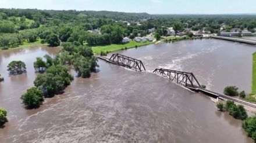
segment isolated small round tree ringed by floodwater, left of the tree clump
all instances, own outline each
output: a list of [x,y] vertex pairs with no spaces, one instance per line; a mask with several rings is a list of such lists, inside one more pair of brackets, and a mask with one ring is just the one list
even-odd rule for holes
[[10,74],[22,74],[26,71],[26,64],[23,61],[12,61],[7,66]]

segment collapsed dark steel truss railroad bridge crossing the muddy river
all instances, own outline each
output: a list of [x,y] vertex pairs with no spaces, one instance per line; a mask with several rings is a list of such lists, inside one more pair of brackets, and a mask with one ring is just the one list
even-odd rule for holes
[[[106,58],[102,56],[97,56],[101,60],[107,61],[112,64],[120,65],[122,67],[134,69],[136,71],[145,71],[145,67],[140,60],[136,60],[135,58],[127,57],[122,54],[113,54],[111,58]],[[238,102],[243,105],[247,105],[249,107],[256,108],[256,105],[251,104],[250,102],[246,102],[243,100],[239,100],[237,98],[233,98],[230,96],[226,96],[224,94],[216,93],[215,91],[207,90],[202,88],[200,83],[198,82],[197,78],[195,78],[192,72],[183,72],[183,71],[175,71],[172,69],[155,69],[153,71],[155,74],[161,75],[164,78],[168,78],[172,82],[177,83],[180,86],[186,87],[192,91],[201,92],[211,96],[213,98],[224,98],[226,100],[232,100],[234,102]]]

